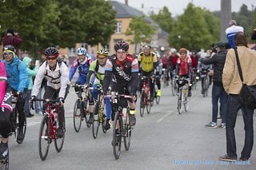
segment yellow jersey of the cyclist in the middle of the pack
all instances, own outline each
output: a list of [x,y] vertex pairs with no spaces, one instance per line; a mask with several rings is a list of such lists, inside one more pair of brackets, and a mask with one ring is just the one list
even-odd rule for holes
[[149,56],[146,56],[145,53],[138,54],[138,61],[141,63],[142,70],[145,72],[150,72],[154,70],[154,63],[158,61],[155,53],[150,53]]

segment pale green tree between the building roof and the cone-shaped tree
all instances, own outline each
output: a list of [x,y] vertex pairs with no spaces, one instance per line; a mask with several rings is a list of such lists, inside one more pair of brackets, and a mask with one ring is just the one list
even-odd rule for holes
[[171,33],[174,19],[171,17],[171,13],[166,6],[164,6],[162,10],[159,10],[158,14],[150,15],[150,18],[152,18],[154,22],[157,22],[162,30]]

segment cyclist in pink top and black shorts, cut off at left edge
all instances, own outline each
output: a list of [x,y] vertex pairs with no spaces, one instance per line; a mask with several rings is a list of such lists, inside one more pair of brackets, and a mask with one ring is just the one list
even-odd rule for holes
[[6,67],[0,61],[0,134],[2,136],[0,143],[0,160],[4,159],[8,153],[8,140],[11,131],[10,113],[11,107],[11,90],[6,87]]

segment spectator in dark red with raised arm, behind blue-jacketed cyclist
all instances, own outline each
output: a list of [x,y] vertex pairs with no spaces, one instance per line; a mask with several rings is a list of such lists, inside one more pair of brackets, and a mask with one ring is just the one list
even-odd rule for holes
[[[6,36],[2,38],[2,45],[13,45],[16,49],[16,54],[18,56],[18,48],[22,43],[22,38],[19,37],[17,32],[14,32],[12,28],[7,30]],[[19,57],[19,56],[18,56]],[[21,59],[21,57],[19,57]]]

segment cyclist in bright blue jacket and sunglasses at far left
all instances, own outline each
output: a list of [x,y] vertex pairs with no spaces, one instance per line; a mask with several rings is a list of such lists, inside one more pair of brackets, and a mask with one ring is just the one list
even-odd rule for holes
[[7,83],[10,85],[13,93],[18,96],[18,136],[17,140],[24,137],[23,126],[26,119],[24,105],[26,101],[26,91],[29,85],[28,73],[26,66],[20,61],[15,54],[13,45],[6,45],[3,48],[4,64],[6,65]]

